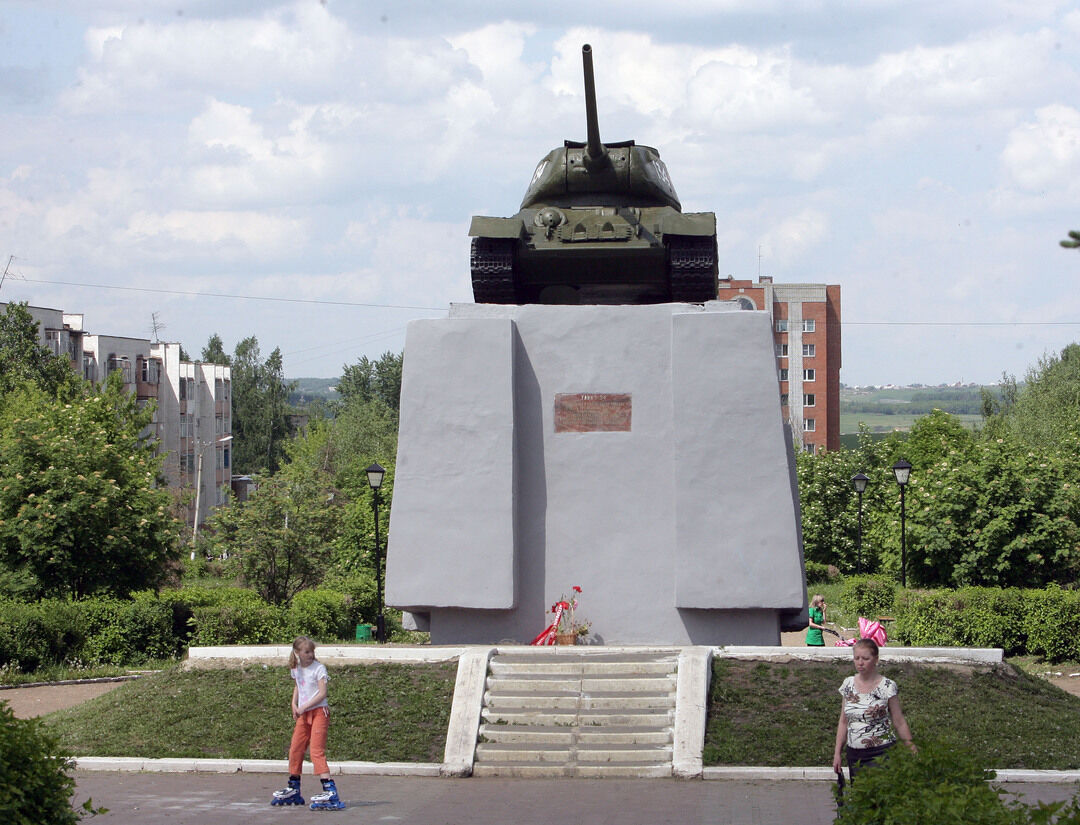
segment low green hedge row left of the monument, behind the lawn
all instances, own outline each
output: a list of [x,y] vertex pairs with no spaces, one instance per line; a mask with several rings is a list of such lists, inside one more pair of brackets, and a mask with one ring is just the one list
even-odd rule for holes
[[285,644],[300,635],[351,639],[375,609],[366,583],[350,591],[303,591],[280,607],[241,587],[187,587],[131,599],[4,599],[0,668],[139,665],[178,655],[188,645]]

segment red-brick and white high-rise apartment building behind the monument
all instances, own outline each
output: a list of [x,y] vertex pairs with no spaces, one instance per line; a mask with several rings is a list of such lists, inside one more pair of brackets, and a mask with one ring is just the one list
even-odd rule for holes
[[780,403],[802,449],[840,448],[840,287],[720,281],[719,300],[772,317]]

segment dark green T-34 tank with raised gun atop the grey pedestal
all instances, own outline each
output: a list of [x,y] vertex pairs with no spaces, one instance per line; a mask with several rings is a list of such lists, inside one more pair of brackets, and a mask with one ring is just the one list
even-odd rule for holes
[[476,215],[477,303],[662,303],[716,298],[716,215],[683,213],[660,152],[600,143],[592,49],[581,49],[588,140],[540,161],[512,218]]

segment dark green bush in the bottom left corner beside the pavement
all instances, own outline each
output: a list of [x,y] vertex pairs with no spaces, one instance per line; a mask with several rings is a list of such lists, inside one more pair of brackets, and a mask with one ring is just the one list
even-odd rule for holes
[[87,799],[71,808],[71,761],[38,719],[16,719],[0,702],[0,822],[4,825],[68,825],[95,810]]

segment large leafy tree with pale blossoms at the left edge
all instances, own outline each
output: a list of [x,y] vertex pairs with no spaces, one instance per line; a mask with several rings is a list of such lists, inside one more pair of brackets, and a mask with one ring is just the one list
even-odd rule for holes
[[0,410],[0,558],[41,593],[126,596],[178,557],[151,415],[119,374],[71,403],[25,387]]

